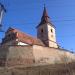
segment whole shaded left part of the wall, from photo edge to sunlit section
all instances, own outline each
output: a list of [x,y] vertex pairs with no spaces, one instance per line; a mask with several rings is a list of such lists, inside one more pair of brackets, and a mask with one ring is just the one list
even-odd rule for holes
[[[33,64],[34,56],[32,46],[7,46],[0,48],[0,61],[6,66],[28,66]],[[1,64],[0,64],[1,65]]]

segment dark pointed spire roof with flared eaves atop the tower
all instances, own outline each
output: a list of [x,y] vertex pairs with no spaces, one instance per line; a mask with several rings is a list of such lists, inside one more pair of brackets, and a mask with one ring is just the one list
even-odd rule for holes
[[44,6],[44,10],[43,10],[43,15],[41,17],[41,22],[40,24],[37,26],[41,26],[42,24],[45,24],[45,23],[50,23],[51,26],[55,27],[51,22],[50,22],[50,17],[48,16],[48,13],[47,13],[47,9],[46,7]]

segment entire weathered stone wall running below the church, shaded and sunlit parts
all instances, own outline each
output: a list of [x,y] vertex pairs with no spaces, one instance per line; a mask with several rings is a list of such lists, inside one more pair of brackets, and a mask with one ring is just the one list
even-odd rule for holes
[[32,64],[57,64],[75,61],[75,54],[61,49],[33,46],[0,47],[0,66],[29,66]]

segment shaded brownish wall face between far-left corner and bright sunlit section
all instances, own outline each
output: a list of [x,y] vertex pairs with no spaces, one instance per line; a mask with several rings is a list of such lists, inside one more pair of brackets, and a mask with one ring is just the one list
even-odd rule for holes
[[33,52],[31,46],[14,46],[9,48],[7,65],[30,65],[33,64]]

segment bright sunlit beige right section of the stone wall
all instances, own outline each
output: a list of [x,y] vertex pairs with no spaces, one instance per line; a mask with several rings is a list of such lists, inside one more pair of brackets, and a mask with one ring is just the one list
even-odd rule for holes
[[75,54],[62,49],[34,45],[33,54],[36,63],[54,64],[75,61]]

